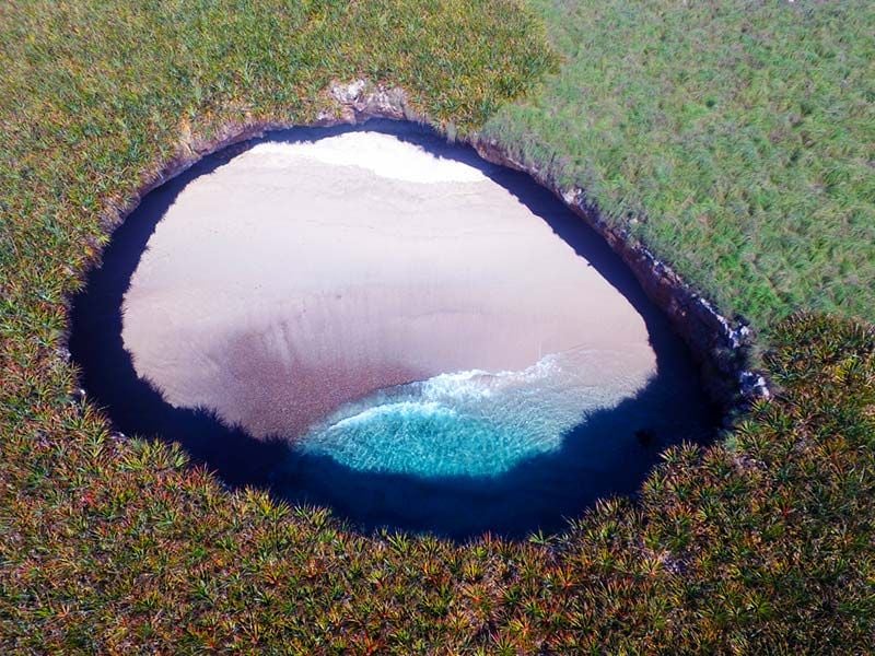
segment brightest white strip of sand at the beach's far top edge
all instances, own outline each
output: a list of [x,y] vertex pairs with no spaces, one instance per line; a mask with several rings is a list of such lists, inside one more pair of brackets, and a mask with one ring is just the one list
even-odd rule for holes
[[347,132],[318,141],[299,143],[266,142],[249,151],[253,155],[271,155],[311,160],[335,166],[357,166],[381,177],[408,183],[480,183],[486,176],[474,166],[438,157],[415,143],[381,132]]

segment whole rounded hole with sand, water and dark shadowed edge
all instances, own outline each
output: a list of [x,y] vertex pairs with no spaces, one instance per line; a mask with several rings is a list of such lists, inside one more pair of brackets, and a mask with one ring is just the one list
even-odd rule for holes
[[718,419],[583,221],[392,121],[275,132],[151,191],[70,351],[120,431],[364,530],[558,530]]

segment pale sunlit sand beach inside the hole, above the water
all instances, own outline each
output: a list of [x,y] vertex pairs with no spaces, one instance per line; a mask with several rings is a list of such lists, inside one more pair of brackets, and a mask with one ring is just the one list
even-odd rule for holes
[[605,377],[655,371],[642,318],[544,220],[477,168],[376,132],[264,143],[195,179],[124,309],[140,376],[257,436],[580,347],[622,353]]

